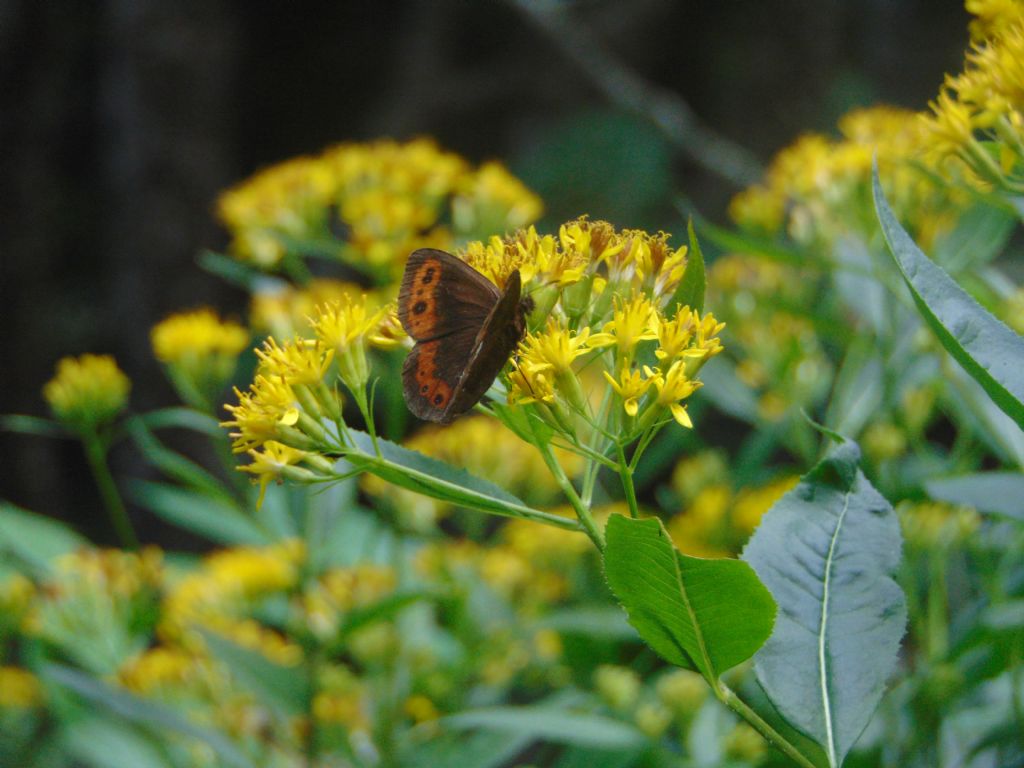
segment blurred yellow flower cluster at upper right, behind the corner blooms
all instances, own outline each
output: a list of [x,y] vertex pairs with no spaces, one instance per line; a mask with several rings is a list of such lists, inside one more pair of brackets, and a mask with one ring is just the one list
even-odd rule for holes
[[833,242],[845,231],[869,232],[871,160],[893,210],[919,242],[929,244],[955,223],[948,193],[910,165],[929,145],[918,113],[892,106],[854,110],[839,121],[841,138],[806,134],[779,152],[762,182],[733,198],[729,214],[740,226],[782,229],[796,242]]

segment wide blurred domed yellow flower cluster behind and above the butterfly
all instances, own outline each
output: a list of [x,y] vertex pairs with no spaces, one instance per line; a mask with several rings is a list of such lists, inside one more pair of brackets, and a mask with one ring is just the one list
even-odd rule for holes
[[[339,258],[385,281],[417,248],[524,226],[541,210],[501,164],[473,169],[425,138],[346,143],[290,160],[218,202],[240,259],[270,268],[303,241],[331,242]],[[342,243],[332,240],[339,228]]]

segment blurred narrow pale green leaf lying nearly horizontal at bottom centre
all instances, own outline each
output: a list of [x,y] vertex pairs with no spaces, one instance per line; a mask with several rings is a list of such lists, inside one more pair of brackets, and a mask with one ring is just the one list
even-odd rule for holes
[[620,720],[559,710],[550,705],[470,710],[443,718],[440,724],[459,730],[506,731],[554,743],[605,750],[628,749],[646,740],[639,730]]

